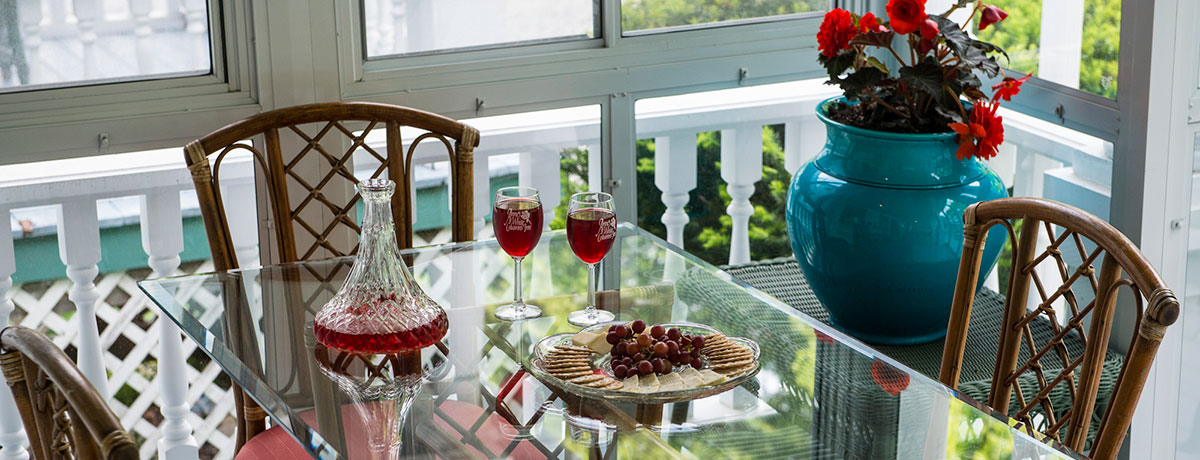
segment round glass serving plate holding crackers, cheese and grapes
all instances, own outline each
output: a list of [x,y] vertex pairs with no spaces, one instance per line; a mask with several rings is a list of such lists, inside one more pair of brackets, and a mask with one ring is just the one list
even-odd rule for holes
[[[628,324],[628,322],[614,321],[608,323],[594,324],[583,328],[581,331],[584,330],[594,331],[600,329],[607,330],[608,327],[613,324]],[[682,331],[685,335],[708,335],[718,331],[716,329],[713,329],[704,324],[686,323],[686,322],[662,323],[662,327],[679,328],[679,331]],[[727,336],[726,339],[750,348],[750,351],[754,353],[754,368],[750,371],[742,374],[737,377],[726,380],[725,382],[712,386],[686,388],[682,390],[655,392],[655,393],[632,393],[632,392],[584,387],[581,384],[570,383],[562,378],[554,377],[545,368],[546,363],[544,358],[545,353],[547,353],[550,348],[557,346],[571,345],[571,337],[575,336],[575,334],[576,333],[554,334],[539,340],[538,343],[534,345],[534,352],[529,358],[529,365],[526,368],[529,371],[529,374],[533,374],[533,376],[536,377],[542,383],[546,383],[551,387],[583,398],[602,399],[612,402],[632,402],[632,404],[670,404],[670,402],[690,401],[694,399],[708,398],[714,394],[724,393],[733,387],[740,386],[743,382],[757,375],[758,371],[762,369],[762,364],[758,360],[758,354],[760,354],[758,343],[756,343],[754,340],[750,339]],[[589,362],[592,363],[592,368],[605,371],[610,377],[612,376],[612,366],[610,365],[611,360],[612,360],[611,354],[601,356],[596,353],[592,353],[589,359]],[[701,357],[701,362],[704,363],[704,368],[708,368],[709,364],[708,358]],[[678,365],[674,366],[674,371],[676,372],[682,371],[684,368],[690,368],[690,366]]]

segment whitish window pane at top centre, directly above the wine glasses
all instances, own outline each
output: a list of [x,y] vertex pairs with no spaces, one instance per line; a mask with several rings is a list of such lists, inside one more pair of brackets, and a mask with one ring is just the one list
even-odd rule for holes
[[367,56],[600,36],[600,0],[364,0]]

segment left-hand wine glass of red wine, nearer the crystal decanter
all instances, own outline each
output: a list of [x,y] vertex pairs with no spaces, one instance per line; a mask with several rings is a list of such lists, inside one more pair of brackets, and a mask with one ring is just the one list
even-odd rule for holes
[[496,317],[518,321],[541,316],[541,309],[521,298],[521,261],[541,239],[541,199],[534,187],[503,187],[496,191],[492,208],[492,229],[496,241],[512,256],[516,274],[512,276],[512,303],[496,309]]

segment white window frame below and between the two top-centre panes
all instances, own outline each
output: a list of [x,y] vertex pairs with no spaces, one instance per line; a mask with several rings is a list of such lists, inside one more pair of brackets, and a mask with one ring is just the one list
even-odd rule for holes
[[602,0],[598,38],[367,60],[361,6],[338,2],[334,13],[342,100],[452,118],[600,104],[604,190],[630,221],[636,100],[826,74],[816,61],[823,12],[623,34],[620,1]]

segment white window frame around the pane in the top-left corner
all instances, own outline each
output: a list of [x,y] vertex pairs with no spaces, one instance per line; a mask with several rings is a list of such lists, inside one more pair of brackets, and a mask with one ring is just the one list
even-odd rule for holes
[[0,165],[182,145],[259,112],[251,1],[209,0],[209,74],[0,94]]

